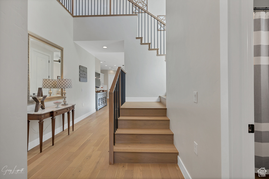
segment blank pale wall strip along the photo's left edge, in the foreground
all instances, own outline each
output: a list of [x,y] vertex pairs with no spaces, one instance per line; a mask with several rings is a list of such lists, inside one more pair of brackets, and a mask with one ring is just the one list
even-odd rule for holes
[[27,43],[27,0],[1,0],[0,178],[27,178]]

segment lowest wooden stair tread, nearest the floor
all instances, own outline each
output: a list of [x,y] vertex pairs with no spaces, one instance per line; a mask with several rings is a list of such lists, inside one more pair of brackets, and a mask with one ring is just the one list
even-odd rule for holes
[[114,152],[178,153],[174,144],[124,144],[117,143]]

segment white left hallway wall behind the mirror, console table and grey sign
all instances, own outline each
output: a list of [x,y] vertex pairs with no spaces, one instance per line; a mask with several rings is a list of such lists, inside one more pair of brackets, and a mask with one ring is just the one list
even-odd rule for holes
[[[63,78],[72,79],[73,83],[73,88],[66,89],[66,100],[69,104],[76,104],[75,123],[95,112],[95,57],[73,42],[73,17],[55,0],[29,0],[28,30],[63,47]],[[79,65],[87,67],[88,82],[79,81]],[[45,107],[53,105],[52,102],[45,103]],[[34,106],[28,105],[27,111],[34,110]],[[61,116],[56,116],[55,134],[61,131],[61,121]],[[66,124],[67,120],[65,128]],[[38,123],[31,121],[30,125],[29,149],[39,145]],[[43,134],[43,140],[51,138],[49,118],[44,120]]]

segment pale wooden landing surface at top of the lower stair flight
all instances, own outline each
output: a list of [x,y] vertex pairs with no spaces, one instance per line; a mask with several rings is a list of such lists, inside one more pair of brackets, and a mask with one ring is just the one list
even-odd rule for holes
[[151,109],[151,108],[162,108],[166,109],[166,106],[161,102],[125,102],[121,108],[144,108],[144,109]]

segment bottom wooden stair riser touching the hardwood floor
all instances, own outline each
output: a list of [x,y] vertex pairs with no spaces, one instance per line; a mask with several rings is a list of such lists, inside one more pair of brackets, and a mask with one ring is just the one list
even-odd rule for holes
[[114,152],[114,163],[178,163],[178,153]]

